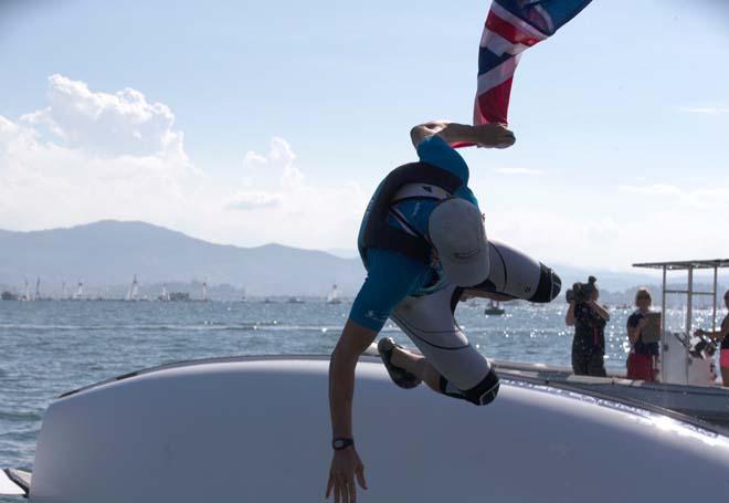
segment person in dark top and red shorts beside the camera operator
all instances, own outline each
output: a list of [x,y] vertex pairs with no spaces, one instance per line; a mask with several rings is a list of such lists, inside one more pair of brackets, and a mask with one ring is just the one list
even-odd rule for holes
[[635,294],[637,310],[627,317],[627,338],[631,342],[631,353],[627,355],[627,378],[655,381],[658,361],[658,343],[643,342],[643,329],[647,325],[647,314],[651,313],[653,298],[647,289],[638,289]]

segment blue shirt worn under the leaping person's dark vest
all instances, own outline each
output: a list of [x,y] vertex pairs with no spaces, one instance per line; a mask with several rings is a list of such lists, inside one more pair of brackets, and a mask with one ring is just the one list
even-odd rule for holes
[[[421,161],[451,171],[463,180],[455,197],[478,207],[468,189],[468,166],[461,155],[439,136],[425,138],[418,145]],[[427,235],[427,220],[436,206],[432,199],[410,199],[393,206],[410,227]],[[394,227],[400,224],[390,219]],[[391,250],[367,250],[367,279],[352,305],[349,318],[360,326],[380,332],[394,308],[410,295],[425,295],[442,289],[439,269]]]

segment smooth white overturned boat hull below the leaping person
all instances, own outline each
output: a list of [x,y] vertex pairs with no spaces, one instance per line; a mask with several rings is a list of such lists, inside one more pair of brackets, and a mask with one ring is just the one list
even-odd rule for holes
[[[3,472],[0,491],[51,503],[323,499],[328,367],[328,356],[203,359],[66,392],[44,415],[32,473]],[[364,503],[727,494],[726,430],[517,374],[476,407],[425,386],[398,388],[379,358],[363,356],[353,413]]]

